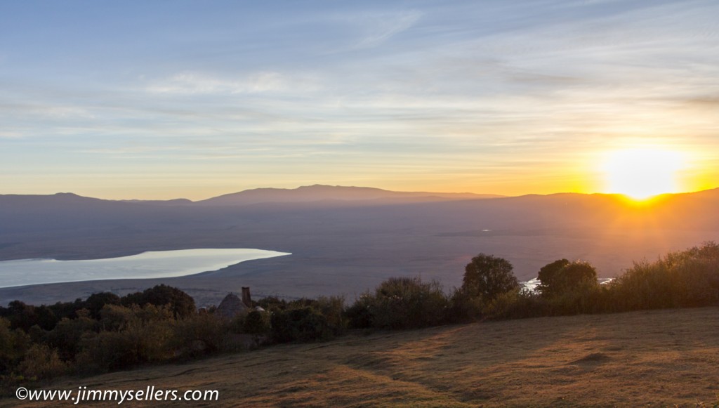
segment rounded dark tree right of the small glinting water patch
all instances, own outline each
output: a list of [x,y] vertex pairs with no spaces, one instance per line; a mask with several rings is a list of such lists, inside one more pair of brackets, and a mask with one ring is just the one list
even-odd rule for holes
[[[543,296],[557,296],[581,287],[597,285],[597,269],[591,263],[582,260],[563,261],[566,259],[556,260],[540,269],[539,287]],[[561,266],[562,263],[564,266]]]

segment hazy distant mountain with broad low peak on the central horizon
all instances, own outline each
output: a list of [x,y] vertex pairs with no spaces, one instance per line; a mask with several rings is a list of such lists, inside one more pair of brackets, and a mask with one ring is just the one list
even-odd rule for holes
[[473,193],[430,193],[389,191],[371,187],[348,186],[301,186],[297,189],[252,189],[239,193],[224,194],[196,204],[231,206],[259,204],[267,202],[311,202],[311,201],[445,201],[461,199],[492,199],[501,196]]

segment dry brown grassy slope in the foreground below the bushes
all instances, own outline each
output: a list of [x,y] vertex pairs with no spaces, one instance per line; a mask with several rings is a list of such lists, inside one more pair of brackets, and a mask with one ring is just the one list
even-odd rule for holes
[[70,378],[46,388],[81,385],[218,389],[219,404],[206,406],[711,406],[719,393],[719,308],[350,336]]

